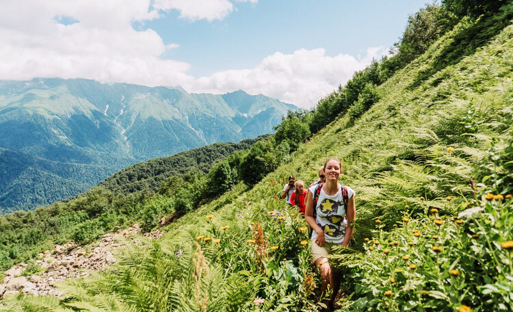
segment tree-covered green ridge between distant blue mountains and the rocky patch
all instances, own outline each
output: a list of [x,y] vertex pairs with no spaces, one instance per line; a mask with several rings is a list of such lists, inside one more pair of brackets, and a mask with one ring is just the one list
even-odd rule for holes
[[[232,179],[224,180],[215,174],[224,168],[222,161],[239,161],[241,153],[266,137],[207,145],[135,164],[64,202],[0,216],[0,270],[68,239],[85,244],[136,221],[141,222],[143,229],[152,229],[172,212],[171,207],[173,211],[179,210],[175,213],[178,217],[237,183],[237,172],[233,172]],[[205,189],[203,185],[209,183],[216,185]],[[187,192],[187,196],[179,198],[189,200],[181,206],[182,210],[176,209],[176,203],[168,203],[176,192]],[[155,200],[159,202],[157,206]]]

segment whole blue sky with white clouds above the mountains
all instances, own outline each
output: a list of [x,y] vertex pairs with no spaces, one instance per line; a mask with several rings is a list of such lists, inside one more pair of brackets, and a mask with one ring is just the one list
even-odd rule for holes
[[387,55],[427,0],[1,0],[0,79],[244,90],[302,108]]

